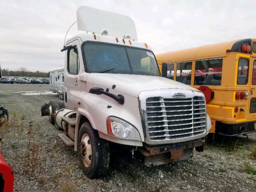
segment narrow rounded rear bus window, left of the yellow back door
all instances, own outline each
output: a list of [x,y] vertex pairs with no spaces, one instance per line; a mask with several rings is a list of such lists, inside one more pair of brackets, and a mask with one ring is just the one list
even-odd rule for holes
[[238,73],[237,73],[237,84],[246,85],[248,82],[248,66],[249,60],[239,59],[238,61]]

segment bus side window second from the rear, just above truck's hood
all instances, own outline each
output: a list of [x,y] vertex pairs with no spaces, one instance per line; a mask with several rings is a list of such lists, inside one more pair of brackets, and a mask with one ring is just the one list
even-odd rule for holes
[[192,61],[177,63],[176,81],[190,85]]

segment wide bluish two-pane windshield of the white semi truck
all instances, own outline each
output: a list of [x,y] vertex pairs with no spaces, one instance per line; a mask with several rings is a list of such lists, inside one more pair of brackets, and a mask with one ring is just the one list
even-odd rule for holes
[[93,42],[85,43],[83,49],[88,72],[160,76],[149,50]]

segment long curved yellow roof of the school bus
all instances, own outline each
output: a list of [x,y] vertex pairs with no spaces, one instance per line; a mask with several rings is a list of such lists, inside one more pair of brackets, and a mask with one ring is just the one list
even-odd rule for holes
[[[194,48],[188,48],[183,50],[171,51],[166,53],[161,53],[156,55],[156,60],[158,64],[162,62],[178,62],[178,61],[188,61],[201,58],[214,58],[223,57],[227,55],[226,50],[231,50],[231,52],[239,52],[240,44],[244,42],[250,42],[252,46],[252,41],[256,42],[256,39],[240,39],[228,42],[204,45]],[[252,51],[251,51],[252,52]],[[252,53],[251,53],[252,54]]]

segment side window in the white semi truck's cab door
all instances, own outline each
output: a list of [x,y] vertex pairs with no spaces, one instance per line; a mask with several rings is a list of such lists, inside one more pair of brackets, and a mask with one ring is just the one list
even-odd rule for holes
[[68,51],[68,73],[78,74],[79,72],[79,58],[76,48]]

